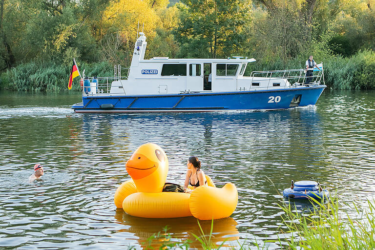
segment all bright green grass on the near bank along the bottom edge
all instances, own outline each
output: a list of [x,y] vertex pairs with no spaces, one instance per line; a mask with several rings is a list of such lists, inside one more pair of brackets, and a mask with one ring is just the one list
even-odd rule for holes
[[[353,204],[354,214],[340,211],[338,201],[330,201],[327,204],[315,203],[311,212],[300,213],[293,206],[282,206],[283,224],[287,230],[280,229],[280,233],[289,233],[288,239],[279,240],[280,249],[285,250],[371,250],[375,249],[375,206],[368,201],[368,210],[360,211]],[[351,218],[352,217],[352,218]],[[214,223],[214,222],[212,222]],[[213,225],[213,224],[212,224]],[[201,235],[194,235],[204,250],[211,249],[258,249],[267,250],[256,242],[238,242],[238,247],[223,247],[224,243],[217,245],[211,231],[205,235],[200,227]],[[162,244],[153,245],[151,242],[158,239]],[[164,233],[158,233],[149,238],[149,249],[189,249],[191,242],[171,242],[171,237],[164,229]],[[282,241],[284,242],[282,244]],[[153,241],[155,243],[155,241]],[[276,242],[277,243],[277,242]]]

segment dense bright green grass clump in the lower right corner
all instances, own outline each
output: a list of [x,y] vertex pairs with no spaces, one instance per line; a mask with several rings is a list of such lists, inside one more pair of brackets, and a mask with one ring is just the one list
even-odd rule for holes
[[340,211],[337,201],[326,205],[318,203],[309,215],[284,207],[284,224],[294,232],[288,241],[289,249],[375,249],[374,202],[368,201],[367,211],[359,211],[355,204],[353,206],[356,212],[352,216]]

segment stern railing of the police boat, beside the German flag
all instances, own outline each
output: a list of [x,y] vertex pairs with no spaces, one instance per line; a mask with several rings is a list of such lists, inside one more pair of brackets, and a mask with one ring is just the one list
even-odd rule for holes
[[[112,82],[120,81],[120,80],[127,80],[126,76],[113,76],[113,77],[97,77],[98,83],[93,83],[93,77],[88,77],[90,81],[90,86],[83,86],[82,93],[83,96],[95,96],[102,93],[110,93]],[[125,90],[122,84],[116,85],[118,89],[116,89],[116,93],[124,93]]]

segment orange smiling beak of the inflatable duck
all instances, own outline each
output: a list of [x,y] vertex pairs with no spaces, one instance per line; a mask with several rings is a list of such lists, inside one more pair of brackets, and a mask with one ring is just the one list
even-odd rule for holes
[[155,172],[159,163],[151,161],[143,154],[133,154],[125,164],[126,171],[133,180],[139,180]]

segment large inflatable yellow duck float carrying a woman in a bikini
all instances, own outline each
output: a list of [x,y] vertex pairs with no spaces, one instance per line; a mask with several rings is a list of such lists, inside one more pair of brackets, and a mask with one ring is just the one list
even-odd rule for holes
[[125,166],[132,180],[117,188],[114,202],[129,215],[144,218],[194,216],[199,220],[211,220],[229,217],[237,207],[238,193],[234,184],[217,188],[207,175],[208,186],[197,187],[191,193],[162,192],[167,180],[168,158],[156,144],[138,147]]

